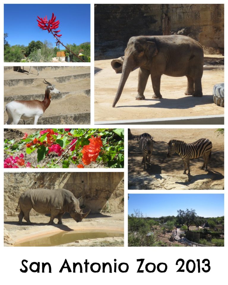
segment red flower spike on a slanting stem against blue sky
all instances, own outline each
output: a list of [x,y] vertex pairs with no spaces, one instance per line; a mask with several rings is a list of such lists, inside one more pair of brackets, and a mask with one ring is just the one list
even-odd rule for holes
[[[54,15],[54,13],[52,13],[52,17],[50,20],[47,20],[47,16],[44,18],[40,18],[39,16],[37,16],[37,18],[39,20],[37,20],[38,22],[38,27],[42,30],[47,30],[48,33],[52,33],[53,37],[56,39],[56,45],[61,44],[62,46],[64,46],[67,50],[69,50],[68,47],[66,47],[61,41],[60,41],[60,37],[62,36],[62,34],[58,34],[61,30],[56,31],[56,29],[58,29],[59,26],[59,20],[56,21],[56,16]],[[69,50],[70,53],[73,53],[71,50]],[[77,56],[75,53],[73,53],[73,55],[75,55],[77,58],[79,58],[81,61],[85,62],[82,58],[80,58],[80,56]]]

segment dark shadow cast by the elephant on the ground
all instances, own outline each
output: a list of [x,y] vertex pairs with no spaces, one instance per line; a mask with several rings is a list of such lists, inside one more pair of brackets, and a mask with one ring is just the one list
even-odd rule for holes
[[189,109],[199,105],[206,105],[213,103],[213,95],[203,95],[202,97],[193,97],[193,96],[184,96],[178,99],[145,99],[145,101],[156,101],[156,104],[152,105],[125,105],[125,106],[116,106],[115,108],[122,107],[151,107],[151,108],[166,108],[166,109]]

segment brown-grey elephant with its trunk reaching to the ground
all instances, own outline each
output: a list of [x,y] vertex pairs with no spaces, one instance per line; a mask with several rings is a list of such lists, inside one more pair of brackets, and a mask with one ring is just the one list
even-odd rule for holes
[[[201,97],[203,74],[203,49],[200,43],[182,35],[131,37],[127,44],[122,75],[113,101],[118,102],[131,71],[139,69],[138,95],[136,100],[144,100],[143,95],[149,75],[151,75],[154,95],[162,98],[160,83],[162,74],[188,79],[185,95]],[[170,86],[172,89],[172,86]]]

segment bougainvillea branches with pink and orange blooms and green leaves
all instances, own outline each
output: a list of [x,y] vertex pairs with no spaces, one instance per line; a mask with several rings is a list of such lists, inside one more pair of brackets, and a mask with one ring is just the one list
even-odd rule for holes
[[[5,139],[4,168],[124,167],[123,129],[45,129]],[[15,158],[14,153],[20,152]],[[24,154],[23,154],[24,152]],[[26,157],[24,157],[26,156]]]

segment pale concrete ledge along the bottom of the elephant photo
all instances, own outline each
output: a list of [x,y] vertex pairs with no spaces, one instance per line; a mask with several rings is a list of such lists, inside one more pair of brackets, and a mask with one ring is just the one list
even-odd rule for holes
[[98,121],[95,125],[224,125],[224,115],[158,118],[123,121]]

